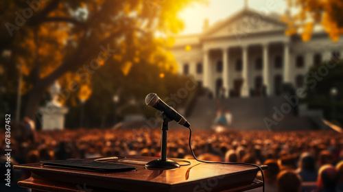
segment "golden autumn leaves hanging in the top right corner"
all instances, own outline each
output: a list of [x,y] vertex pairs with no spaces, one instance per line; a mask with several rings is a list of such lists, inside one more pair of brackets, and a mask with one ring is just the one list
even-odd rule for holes
[[341,0],[287,0],[289,8],[298,9],[296,14],[286,14],[288,35],[300,31],[304,41],[311,39],[317,25],[321,25],[331,40],[338,41],[343,34],[343,1]]

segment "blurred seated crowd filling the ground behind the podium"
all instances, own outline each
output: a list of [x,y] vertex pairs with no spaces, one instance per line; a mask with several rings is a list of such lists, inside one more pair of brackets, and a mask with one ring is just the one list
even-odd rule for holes
[[[5,138],[0,134],[0,139]],[[13,137],[12,164],[104,156],[158,157],[161,147],[158,128],[80,128]],[[189,130],[169,130],[167,157],[193,158],[188,142]],[[343,191],[343,137],[338,132],[194,130],[191,145],[200,160],[268,165],[264,171],[266,191]],[[21,172],[16,177],[28,175]]]

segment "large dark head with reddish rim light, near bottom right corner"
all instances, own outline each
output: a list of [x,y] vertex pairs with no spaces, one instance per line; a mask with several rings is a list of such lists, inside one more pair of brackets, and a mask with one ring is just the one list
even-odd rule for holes
[[332,165],[322,165],[318,171],[317,186],[320,190],[334,191],[338,181],[338,171]]

